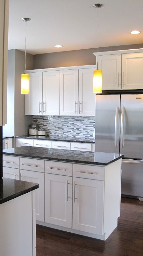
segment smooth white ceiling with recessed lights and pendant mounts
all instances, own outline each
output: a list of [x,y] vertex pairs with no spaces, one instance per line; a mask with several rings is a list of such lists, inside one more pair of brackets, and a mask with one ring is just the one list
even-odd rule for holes
[[[97,47],[95,0],[10,0],[9,49],[32,54]],[[99,1],[100,3],[100,1]],[[143,43],[143,0],[103,0],[99,9],[99,47]],[[142,33],[131,35],[130,31]],[[54,45],[61,44],[62,48]]]

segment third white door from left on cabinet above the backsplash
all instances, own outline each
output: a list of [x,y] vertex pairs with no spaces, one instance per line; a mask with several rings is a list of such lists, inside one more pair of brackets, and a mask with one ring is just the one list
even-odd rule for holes
[[60,115],[78,116],[78,69],[60,71]]

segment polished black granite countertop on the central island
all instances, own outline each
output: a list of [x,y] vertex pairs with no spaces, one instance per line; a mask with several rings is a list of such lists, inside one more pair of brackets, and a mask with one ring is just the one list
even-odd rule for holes
[[122,154],[113,153],[88,152],[56,148],[38,148],[28,146],[4,149],[3,154],[11,156],[40,158],[60,162],[96,165],[108,165],[124,156]]

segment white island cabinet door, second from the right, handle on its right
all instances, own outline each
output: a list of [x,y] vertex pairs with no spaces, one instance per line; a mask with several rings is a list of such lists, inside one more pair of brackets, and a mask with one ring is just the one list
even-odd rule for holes
[[45,173],[45,222],[72,227],[72,177]]

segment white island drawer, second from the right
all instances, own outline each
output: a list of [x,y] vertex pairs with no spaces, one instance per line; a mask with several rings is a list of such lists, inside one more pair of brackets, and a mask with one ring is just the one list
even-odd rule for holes
[[45,172],[66,176],[73,175],[73,164],[45,161]]

